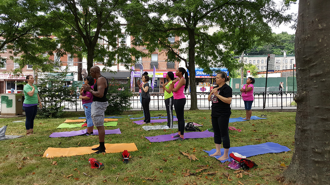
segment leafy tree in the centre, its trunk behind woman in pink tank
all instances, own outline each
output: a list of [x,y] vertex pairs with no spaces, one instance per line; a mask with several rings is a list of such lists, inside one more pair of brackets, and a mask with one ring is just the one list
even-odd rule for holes
[[[273,1],[236,0],[158,0],[132,1],[124,10],[127,32],[133,44],[146,46],[149,53],[165,51],[168,60],[182,61],[195,84],[195,66],[210,72],[211,67],[235,68],[232,55],[241,54],[256,43],[273,40],[268,23],[280,24],[289,16]],[[213,32],[212,30],[216,31]],[[178,36],[171,44],[169,37]],[[184,57],[181,54],[187,53]],[[191,86],[191,107],[197,109],[196,87]]]

